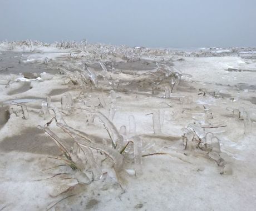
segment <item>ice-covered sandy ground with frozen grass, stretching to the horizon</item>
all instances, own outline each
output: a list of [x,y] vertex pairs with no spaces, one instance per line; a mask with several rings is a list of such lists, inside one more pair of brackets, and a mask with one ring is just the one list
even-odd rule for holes
[[[0,43],[0,210],[255,210],[255,52]],[[87,67],[92,75],[81,82]],[[65,107],[67,93],[76,108]],[[52,159],[62,152],[37,127],[55,117],[47,97],[67,125],[99,146],[84,148],[91,159],[75,151],[77,137],[63,132],[58,120],[46,127],[73,149],[88,181]],[[97,112],[117,128],[120,144],[134,142],[122,152],[119,169],[102,151],[112,149],[111,135]],[[181,129],[191,124],[201,140],[188,138],[184,149],[182,135],[189,132]],[[218,137],[221,152],[208,132]]]

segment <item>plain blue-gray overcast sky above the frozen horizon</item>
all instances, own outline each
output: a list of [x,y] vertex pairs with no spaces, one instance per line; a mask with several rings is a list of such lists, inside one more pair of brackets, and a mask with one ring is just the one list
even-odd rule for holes
[[256,0],[0,0],[0,40],[256,46]]

